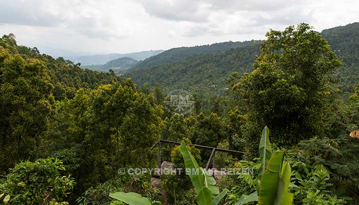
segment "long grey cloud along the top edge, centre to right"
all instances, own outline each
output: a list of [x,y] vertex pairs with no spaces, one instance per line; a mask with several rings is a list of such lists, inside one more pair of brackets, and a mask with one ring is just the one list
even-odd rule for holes
[[174,21],[188,21],[194,23],[208,22],[214,12],[230,14],[235,11],[276,12],[286,8],[305,5],[305,1],[293,2],[287,0],[253,1],[253,0],[138,0],[150,15]]

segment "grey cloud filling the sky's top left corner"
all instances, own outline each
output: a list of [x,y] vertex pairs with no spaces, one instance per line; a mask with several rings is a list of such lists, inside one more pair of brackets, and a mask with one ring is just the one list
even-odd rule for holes
[[[62,27],[93,38],[123,38],[117,22],[96,7],[97,1],[2,0],[0,23]],[[126,27],[123,28],[124,31]]]

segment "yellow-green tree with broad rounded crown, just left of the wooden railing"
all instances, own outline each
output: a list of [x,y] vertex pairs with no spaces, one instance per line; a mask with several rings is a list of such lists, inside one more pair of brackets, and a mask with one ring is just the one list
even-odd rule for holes
[[152,95],[140,92],[126,79],[93,90],[88,103],[89,111],[80,112],[88,114],[87,126],[76,126],[86,132],[81,141],[84,160],[78,169],[79,183],[88,188],[109,179],[118,168],[155,164],[150,147],[159,139],[163,111]]

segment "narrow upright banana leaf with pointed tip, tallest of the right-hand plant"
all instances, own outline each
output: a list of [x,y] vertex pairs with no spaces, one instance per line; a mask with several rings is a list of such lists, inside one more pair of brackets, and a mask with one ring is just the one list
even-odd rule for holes
[[263,173],[266,171],[268,167],[268,163],[273,152],[269,142],[269,129],[267,128],[267,126],[262,131],[262,138],[260,142],[259,151],[260,151],[261,166],[258,169],[258,179],[261,180]]

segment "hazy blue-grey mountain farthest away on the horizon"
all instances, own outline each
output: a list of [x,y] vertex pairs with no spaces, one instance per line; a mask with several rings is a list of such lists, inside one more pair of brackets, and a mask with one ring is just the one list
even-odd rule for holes
[[150,51],[141,51],[134,53],[112,53],[112,54],[99,54],[99,55],[84,55],[75,59],[71,59],[74,63],[81,63],[82,65],[103,65],[108,61],[122,58],[122,57],[130,57],[135,60],[144,60],[153,55],[157,55],[159,53],[164,52],[165,50],[150,50]]

